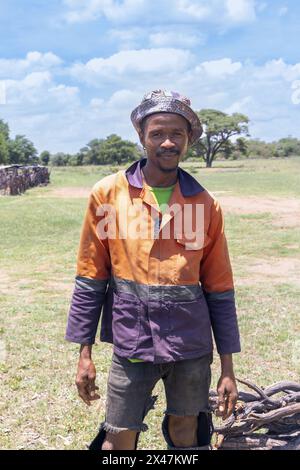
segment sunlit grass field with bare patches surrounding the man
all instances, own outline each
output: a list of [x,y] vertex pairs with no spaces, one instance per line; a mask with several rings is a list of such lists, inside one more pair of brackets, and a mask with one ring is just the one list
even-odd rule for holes
[[[300,158],[185,162],[224,208],[242,353],[236,376],[260,386],[300,375]],[[77,397],[78,345],[64,341],[91,186],[116,168],[53,168],[51,184],[0,198],[0,448],[84,449],[104,419],[112,347],[97,342],[101,399]],[[213,383],[219,377],[215,352]],[[164,449],[163,386],[139,448]]]

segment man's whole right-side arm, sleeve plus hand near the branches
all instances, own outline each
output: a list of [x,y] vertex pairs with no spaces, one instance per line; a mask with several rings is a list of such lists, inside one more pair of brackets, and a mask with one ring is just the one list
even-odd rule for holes
[[240,352],[241,346],[232,269],[224,232],[224,218],[217,201],[212,206],[208,236],[211,242],[203,250],[200,281],[220,355],[221,376],[217,386],[218,405],[219,415],[225,419],[232,414],[238,398],[232,353]]

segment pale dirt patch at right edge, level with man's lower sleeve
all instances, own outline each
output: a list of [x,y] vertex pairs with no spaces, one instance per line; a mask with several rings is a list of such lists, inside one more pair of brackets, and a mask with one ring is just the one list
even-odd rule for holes
[[[248,264],[249,263],[249,264]],[[286,284],[300,287],[300,260],[293,258],[251,259],[245,266],[245,277],[238,276],[236,285],[257,283]]]

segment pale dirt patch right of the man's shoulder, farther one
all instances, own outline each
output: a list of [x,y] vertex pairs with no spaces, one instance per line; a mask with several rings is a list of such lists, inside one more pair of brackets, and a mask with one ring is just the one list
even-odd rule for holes
[[[224,212],[233,214],[260,214],[269,212],[273,225],[300,227],[300,200],[296,198],[227,196],[215,193]],[[220,194],[220,195],[219,195]]]

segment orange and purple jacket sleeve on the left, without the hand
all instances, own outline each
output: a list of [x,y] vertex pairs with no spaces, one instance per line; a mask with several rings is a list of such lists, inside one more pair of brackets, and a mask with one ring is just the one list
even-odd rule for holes
[[[65,339],[93,344],[110,278],[108,241],[100,237],[97,225],[103,219],[101,202],[93,188],[81,229],[75,287],[71,298]],[[100,214],[100,215],[98,215]]]

